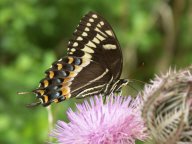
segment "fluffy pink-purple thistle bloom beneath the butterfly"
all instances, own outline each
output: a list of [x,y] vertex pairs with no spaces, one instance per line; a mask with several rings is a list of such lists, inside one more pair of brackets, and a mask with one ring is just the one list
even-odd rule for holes
[[106,104],[95,96],[77,111],[68,110],[69,123],[58,121],[51,136],[64,144],[134,144],[146,138],[140,111],[141,99],[111,96]]

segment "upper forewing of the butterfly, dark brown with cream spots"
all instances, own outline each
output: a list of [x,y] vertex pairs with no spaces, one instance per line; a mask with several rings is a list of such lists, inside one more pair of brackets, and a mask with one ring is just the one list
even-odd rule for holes
[[120,78],[123,60],[119,42],[112,27],[98,14],[89,12],[81,19],[68,48],[69,55],[82,57],[86,54],[109,68],[114,79]]

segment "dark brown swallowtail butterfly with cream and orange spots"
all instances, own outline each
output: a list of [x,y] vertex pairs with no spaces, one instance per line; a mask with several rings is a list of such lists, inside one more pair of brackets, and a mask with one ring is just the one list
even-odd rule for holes
[[66,99],[119,92],[127,79],[120,79],[122,51],[109,23],[95,12],[80,21],[68,42],[67,56],[52,63],[45,78],[32,92],[48,106]]

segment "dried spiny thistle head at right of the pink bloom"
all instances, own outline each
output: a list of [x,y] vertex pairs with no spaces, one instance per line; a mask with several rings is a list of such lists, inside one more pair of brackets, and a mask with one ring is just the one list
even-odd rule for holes
[[156,144],[192,143],[192,65],[145,85],[142,116]]

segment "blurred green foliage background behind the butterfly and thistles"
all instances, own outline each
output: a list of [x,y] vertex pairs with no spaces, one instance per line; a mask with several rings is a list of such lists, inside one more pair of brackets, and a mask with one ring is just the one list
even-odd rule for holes
[[[192,63],[191,0],[0,0],[1,144],[48,141],[46,108],[26,108],[35,96],[17,92],[38,86],[44,71],[66,54],[68,40],[90,10],[107,19],[118,37],[122,77],[148,82],[170,66]],[[131,85],[138,91],[143,86]],[[136,94],[128,87],[124,91]],[[53,105],[54,123],[67,120],[65,111],[74,102]]]

